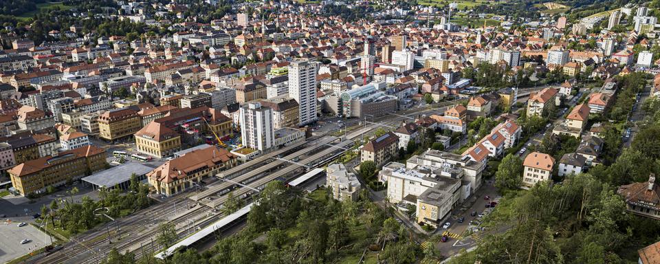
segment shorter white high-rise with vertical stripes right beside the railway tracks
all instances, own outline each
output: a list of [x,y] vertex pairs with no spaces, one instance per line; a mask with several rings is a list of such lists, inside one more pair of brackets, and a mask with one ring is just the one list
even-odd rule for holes
[[250,102],[241,107],[241,138],[244,146],[265,151],[273,146],[272,109],[262,107],[259,102]]

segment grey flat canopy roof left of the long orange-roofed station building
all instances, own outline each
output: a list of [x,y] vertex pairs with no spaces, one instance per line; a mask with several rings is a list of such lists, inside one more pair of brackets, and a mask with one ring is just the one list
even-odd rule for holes
[[90,184],[96,186],[106,186],[112,187],[122,182],[131,180],[131,175],[145,175],[146,173],[153,170],[150,166],[144,166],[139,163],[129,162],[119,166],[114,166],[107,170],[101,170],[94,175],[87,176],[83,178],[83,181],[87,181]]

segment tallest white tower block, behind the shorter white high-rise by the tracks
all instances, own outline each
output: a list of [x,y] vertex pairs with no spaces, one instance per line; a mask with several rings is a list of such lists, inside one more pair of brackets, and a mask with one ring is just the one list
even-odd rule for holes
[[318,119],[316,115],[316,72],[318,63],[293,61],[289,65],[289,97],[300,105],[300,126]]

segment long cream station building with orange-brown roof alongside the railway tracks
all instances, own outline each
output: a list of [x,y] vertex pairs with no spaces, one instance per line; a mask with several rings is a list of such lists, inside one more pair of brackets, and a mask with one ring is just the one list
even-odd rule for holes
[[146,176],[160,195],[171,196],[200,184],[222,170],[236,166],[236,157],[218,146],[190,151],[165,162]]

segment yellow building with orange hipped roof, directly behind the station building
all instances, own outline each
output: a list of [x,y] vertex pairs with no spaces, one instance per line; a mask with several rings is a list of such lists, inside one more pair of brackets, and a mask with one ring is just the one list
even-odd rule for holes
[[181,150],[181,136],[160,124],[149,122],[135,133],[137,152],[153,157],[168,157]]

